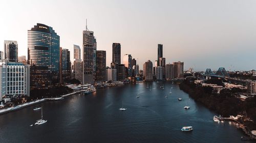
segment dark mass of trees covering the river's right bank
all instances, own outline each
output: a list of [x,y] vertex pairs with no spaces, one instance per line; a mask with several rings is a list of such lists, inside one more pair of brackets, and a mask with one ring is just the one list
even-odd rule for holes
[[[214,82],[218,83],[219,81]],[[212,93],[212,88],[202,87],[189,80],[184,80],[180,84],[180,89],[188,93],[195,101],[202,103],[210,110],[216,111],[224,117],[243,115],[256,121],[256,97],[250,97],[245,101],[241,101],[233,96],[234,93],[244,92],[244,90],[238,88],[231,90],[223,89],[220,91],[220,94],[214,94]],[[243,121],[247,128],[256,130],[256,124],[254,122],[248,122],[247,119]]]

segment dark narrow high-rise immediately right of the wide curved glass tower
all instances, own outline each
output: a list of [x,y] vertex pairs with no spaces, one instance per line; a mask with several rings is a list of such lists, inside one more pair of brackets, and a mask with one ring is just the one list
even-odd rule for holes
[[71,79],[71,62],[69,49],[61,50],[61,72],[62,82],[68,82]]

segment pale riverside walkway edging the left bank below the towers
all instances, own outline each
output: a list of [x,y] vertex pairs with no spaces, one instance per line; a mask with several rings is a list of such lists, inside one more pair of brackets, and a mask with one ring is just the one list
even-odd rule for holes
[[39,104],[39,103],[42,103],[42,102],[46,102],[46,101],[63,100],[63,99],[65,99],[65,97],[69,97],[69,96],[74,95],[74,94],[79,94],[79,93],[84,92],[84,91],[85,90],[76,91],[76,92],[61,95],[60,97],[55,97],[55,98],[42,98],[42,99],[34,100],[34,101],[31,101],[31,102],[26,102],[24,104],[20,104],[20,105],[14,106],[14,107],[1,109],[0,110],[0,115],[3,115],[3,114],[8,113],[8,112],[16,111],[16,110],[19,110],[19,109],[23,109],[23,108],[26,108],[26,107],[29,107],[29,106],[32,106],[32,105],[36,105],[36,104]]

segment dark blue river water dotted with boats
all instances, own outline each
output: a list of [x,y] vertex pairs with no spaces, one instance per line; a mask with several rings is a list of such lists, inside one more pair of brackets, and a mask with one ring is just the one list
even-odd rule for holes
[[[162,84],[98,89],[87,96],[73,95],[6,113],[0,116],[0,142],[242,142],[245,134],[231,122],[215,123],[216,113],[189,98],[178,85],[164,82],[161,90]],[[185,110],[187,104],[191,108]],[[127,110],[119,111],[122,105]],[[40,110],[33,110],[36,106],[43,107],[48,122],[30,127],[41,118]],[[182,132],[183,126],[194,130]]]

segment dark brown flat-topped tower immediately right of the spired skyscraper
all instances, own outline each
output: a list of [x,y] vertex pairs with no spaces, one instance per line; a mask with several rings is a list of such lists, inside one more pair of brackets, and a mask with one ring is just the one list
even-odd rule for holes
[[96,80],[106,81],[106,51],[96,51]]

